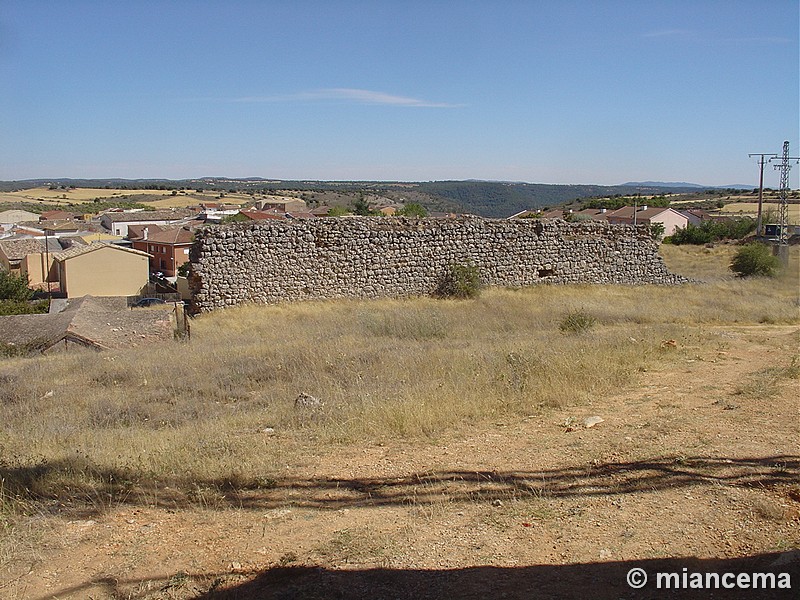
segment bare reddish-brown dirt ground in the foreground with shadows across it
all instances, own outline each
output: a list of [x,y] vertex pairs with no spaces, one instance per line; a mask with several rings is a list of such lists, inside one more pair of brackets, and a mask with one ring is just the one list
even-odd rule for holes
[[[674,361],[616,395],[434,440],[321,447],[277,432],[262,444],[286,446],[284,473],[235,508],[122,504],[32,524],[44,533],[0,573],[0,596],[784,597],[652,582],[688,568],[786,572],[797,598],[800,390],[770,369],[797,356],[799,331],[686,328]],[[626,584],[633,567],[651,577],[642,590]]]

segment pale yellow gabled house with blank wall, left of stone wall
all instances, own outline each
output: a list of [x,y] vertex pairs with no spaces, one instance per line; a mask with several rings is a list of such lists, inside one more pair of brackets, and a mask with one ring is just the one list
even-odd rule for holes
[[80,296],[136,296],[147,285],[150,255],[111,244],[76,246],[56,254],[61,292]]

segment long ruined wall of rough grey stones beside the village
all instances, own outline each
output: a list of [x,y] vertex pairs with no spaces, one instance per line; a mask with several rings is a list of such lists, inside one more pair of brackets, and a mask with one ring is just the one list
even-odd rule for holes
[[191,250],[193,304],[429,295],[452,265],[483,283],[676,284],[645,226],[538,219],[322,218],[212,226]]

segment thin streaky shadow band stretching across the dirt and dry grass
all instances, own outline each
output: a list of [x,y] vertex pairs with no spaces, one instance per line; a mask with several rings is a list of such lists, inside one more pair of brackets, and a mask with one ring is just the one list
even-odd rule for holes
[[442,500],[458,503],[525,497],[592,497],[702,486],[763,489],[796,485],[798,479],[800,457],[790,455],[661,457],[530,471],[444,470],[401,477],[324,479],[153,478],[131,471],[101,469],[86,459],[32,467],[0,464],[6,500],[34,502],[71,518],[98,516],[122,505],[168,509],[292,506],[339,510],[424,505]]

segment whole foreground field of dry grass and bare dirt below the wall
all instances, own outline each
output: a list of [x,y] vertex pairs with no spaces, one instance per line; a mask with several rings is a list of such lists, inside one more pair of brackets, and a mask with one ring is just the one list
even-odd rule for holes
[[3,360],[0,596],[618,598],[642,561],[791,563],[798,251],[774,280],[733,251],[664,246],[680,287],[243,306]]

